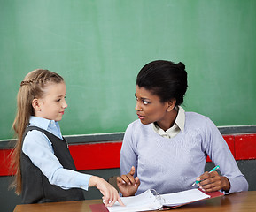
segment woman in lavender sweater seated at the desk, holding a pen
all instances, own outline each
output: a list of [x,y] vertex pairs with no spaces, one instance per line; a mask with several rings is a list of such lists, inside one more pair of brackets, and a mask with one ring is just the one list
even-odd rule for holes
[[[248,183],[218,128],[205,116],[180,106],[187,90],[182,63],[152,61],[136,79],[138,120],[128,125],[117,178],[123,196],[155,189],[175,193],[191,189],[197,179],[206,192],[237,193]],[[205,172],[209,155],[217,171]]]

